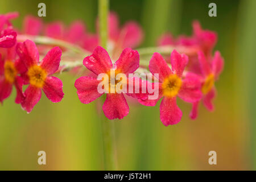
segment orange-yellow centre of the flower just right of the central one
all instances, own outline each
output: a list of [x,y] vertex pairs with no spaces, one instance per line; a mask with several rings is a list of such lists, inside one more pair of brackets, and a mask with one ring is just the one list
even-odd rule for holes
[[175,97],[179,93],[181,85],[181,78],[177,75],[170,75],[165,78],[162,84],[163,96]]

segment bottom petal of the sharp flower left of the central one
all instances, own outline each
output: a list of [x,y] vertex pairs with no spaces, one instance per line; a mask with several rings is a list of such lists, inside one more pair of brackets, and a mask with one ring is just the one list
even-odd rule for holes
[[26,110],[27,113],[30,113],[34,106],[38,103],[41,98],[42,91],[40,88],[35,86],[28,85],[28,88],[25,90],[25,99],[21,103],[22,109]]

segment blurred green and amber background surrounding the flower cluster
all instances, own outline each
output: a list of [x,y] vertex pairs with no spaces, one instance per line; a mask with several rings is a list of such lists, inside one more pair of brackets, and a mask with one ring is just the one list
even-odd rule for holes
[[[14,25],[21,27],[24,15],[37,15],[40,2],[1,0],[0,14],[19,11]],[[97,1],[43,2],[45,22],[69,24],[81,19],[89,31],[95,31]],[[217,4],[217,17],[208,16],[210,2]],[[118,169],[256,169],[256,1],[110,0],[110,10],[118,13],[121,24],[131,19],[142,24],[143,47],[154,46],[166,31],[191,35],[191,22],[198,19],[203,28],[218,33],[215,49],[225,59],[213,113],[200,105],[199,117],[191,121],[191,105],[178,101],[183,118],[178,125],[165,127],[159,119],[159,103],[155,107],[130,103],[129,115],[110,123],[115,125]],[[76,77],[68,73],[59,77],[65,96],[58,104],[42,94],[42,100],[27,114],[14,104],[13,93],[0,106],[0,169],[104,169],[96,102],[81,104],[74,87]],[[47,165],[37,163],[40,150],[46,151]],[[217,152],[217,165],[211,166],[208,152],[212,150]]]

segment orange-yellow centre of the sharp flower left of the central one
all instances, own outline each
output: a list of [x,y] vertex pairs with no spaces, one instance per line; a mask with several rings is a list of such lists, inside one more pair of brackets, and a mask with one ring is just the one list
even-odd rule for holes
[[47,73],[39,65],[32,65],[28,68],[27,75],[31,85],[38,88],[42,88],[44,86],[44,80],[46,80]]

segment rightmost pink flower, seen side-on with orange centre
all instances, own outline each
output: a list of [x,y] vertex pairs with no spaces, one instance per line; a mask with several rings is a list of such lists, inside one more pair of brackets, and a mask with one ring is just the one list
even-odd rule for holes
[[[214,53],[212,61],[208,61],[202,51],[198,53],[198,59],[202,74],[201,91],[203,93],[203,104],[208,110],[212,111],[214,109],[212,100],[216,96],[214,82],[218,80],[218,77],[224,68],[224,60],[218,51]],[[192,119],[197,117],[198,105],[199,101],[193,103],[192,111],[190,113]]]

